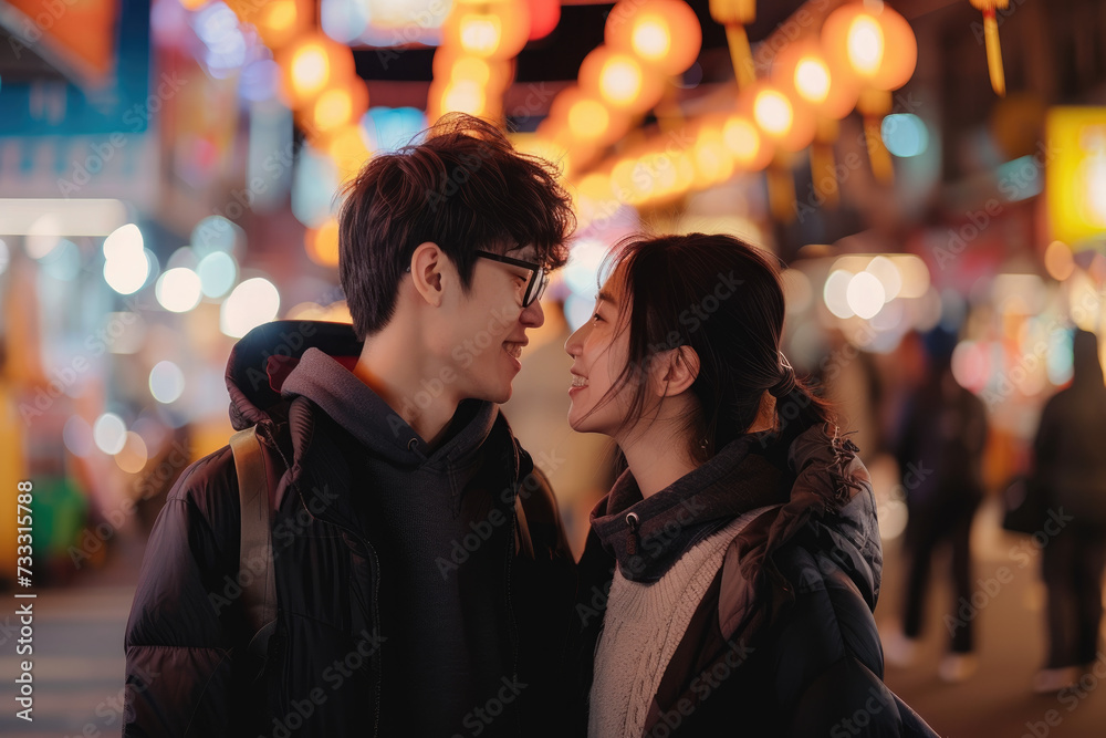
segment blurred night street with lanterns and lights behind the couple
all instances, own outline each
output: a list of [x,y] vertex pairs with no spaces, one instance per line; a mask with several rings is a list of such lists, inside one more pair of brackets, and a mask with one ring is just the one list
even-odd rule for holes
[[[450,111],[574,199],[503,409],[577,553],[612,454],[566,424],[563,344],[603,259],[737,235],[783,264],[785,353],[872,471],[887,684],[943,736],[1104,735],[1100,641],[1071,675],[1047,638],[1050,602],[1102,595],[1106,429],[1079,408],[1106,343],[1077,336],[1106,318],[1104,39],[1100,0],[0,0],[0,735],[118,735],[145,541],[232,432],[234,342],[349,320],[341,186]],[[1072,528],[1004,530],[1081,441]]]

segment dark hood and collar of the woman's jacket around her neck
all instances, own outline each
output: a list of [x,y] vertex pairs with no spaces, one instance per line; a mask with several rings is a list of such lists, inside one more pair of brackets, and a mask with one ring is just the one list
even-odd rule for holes
[[592,512],[592,526],[623,575],[647,582],[735,517],[769,507],[734,541],[742,579],[760,581],[770,557],[797,543],[832,552],[874,607],[883,554],[870,480],[856,451],[823,426],[790,443],[786,435],[750,434],[648,499],[625,471]]

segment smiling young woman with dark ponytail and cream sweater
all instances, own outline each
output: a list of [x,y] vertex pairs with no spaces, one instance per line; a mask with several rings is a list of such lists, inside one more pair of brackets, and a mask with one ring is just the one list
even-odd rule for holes
[[872,486],[780,353],[776,268],[728,236],[615,253],[565,344],[570,423],[628,467],[580,562],[580,732],[936,735],[880,680]]

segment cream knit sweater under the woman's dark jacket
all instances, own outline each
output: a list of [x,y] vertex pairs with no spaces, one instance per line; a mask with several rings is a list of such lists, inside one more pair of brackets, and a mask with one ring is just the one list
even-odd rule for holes
[[665,668],[718,574],[727,547],[766,509],[747,512],[699,541],[656,582],[632,582],[616,567],[595,646],[591,738],[640,738]]

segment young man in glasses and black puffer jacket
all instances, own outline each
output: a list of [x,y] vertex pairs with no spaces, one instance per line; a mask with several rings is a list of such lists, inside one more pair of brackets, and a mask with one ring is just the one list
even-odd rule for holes
[[253,573],[222,448],[185,470],[150,537],[125,736],[553,727],[574,564],[495,403],[573,224],[549,164],[468,116],[351,183],[340,273],[353,326],[263,325],[227,371],[231,419],[257,425],[272,480],[265,657],[250,655],[240,592]]

